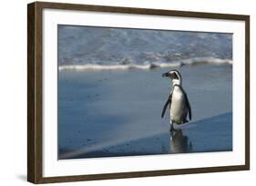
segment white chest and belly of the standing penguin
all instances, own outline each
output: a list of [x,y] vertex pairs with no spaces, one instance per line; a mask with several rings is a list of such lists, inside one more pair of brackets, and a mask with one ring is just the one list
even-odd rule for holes
[[184,94],[179,87],[173,90],[169,113],[171,121],[178,124],[183,122],[187,113]]

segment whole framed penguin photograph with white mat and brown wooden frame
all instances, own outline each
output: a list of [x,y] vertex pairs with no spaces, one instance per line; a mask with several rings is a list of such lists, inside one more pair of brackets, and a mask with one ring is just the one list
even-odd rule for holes
[[27,6],[27,180],[250,169],[250,16]]

